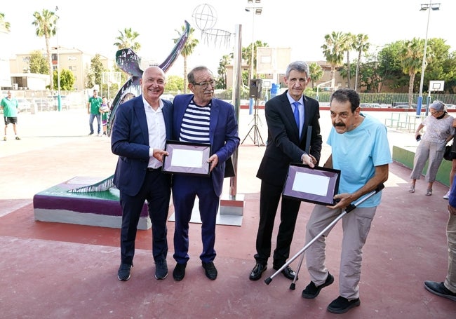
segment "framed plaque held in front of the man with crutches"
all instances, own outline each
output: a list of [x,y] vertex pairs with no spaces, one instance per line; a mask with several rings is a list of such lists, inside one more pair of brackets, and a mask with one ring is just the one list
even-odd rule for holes
[[335,205],[339,189],[340,170],[290,163],[283,196],[320,205]]

